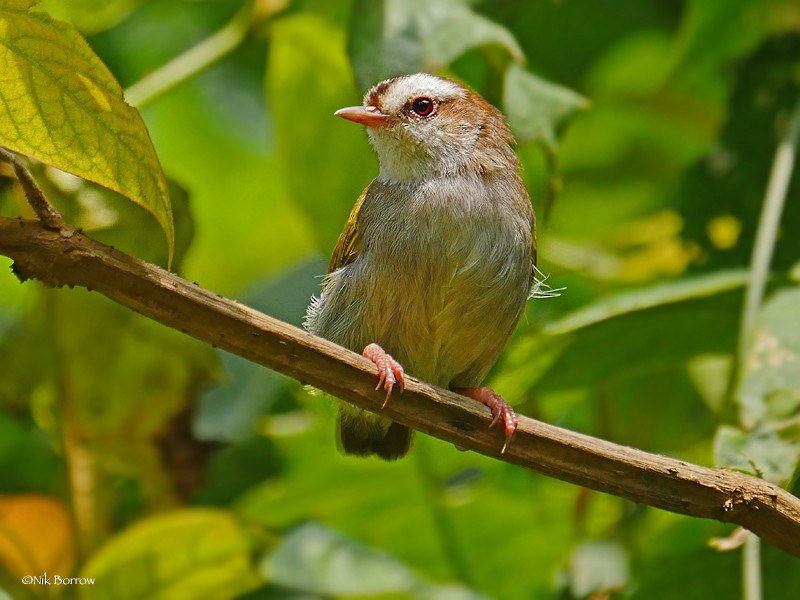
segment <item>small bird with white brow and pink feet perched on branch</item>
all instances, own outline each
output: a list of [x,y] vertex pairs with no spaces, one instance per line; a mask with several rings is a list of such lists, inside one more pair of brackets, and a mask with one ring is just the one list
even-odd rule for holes
[[[382,81],[335,114],[366,126],[380,172],[345,223],[306,328],[374,362],[387,402],[407,371],[485,404],[505,451],[517,416],[478,386],[536,282],[511,130],[477,93],[427,73]],[[348,403],[337,430],[345,454],[395,460],[411,445],[408,427]]]

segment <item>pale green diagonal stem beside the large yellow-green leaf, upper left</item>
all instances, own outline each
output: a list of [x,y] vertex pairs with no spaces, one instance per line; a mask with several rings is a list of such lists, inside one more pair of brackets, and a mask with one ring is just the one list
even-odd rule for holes
[[128,104],[141,107],[232,52],[250,29],[253,7],[247,0],[222,29],[128,87]]

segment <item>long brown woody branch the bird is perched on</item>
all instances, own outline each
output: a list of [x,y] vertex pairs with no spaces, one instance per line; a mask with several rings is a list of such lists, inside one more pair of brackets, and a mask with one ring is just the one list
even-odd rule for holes
[[771,483],[649,454],[520,417],[505,454],[488,411],[408,378],[381,408],[375,367],[358,354],[62,227],[0,218],[0,254],[20,279],[83,286],[168,327],[481,454],[664,510],[737,523],[800,556],[800,500]]

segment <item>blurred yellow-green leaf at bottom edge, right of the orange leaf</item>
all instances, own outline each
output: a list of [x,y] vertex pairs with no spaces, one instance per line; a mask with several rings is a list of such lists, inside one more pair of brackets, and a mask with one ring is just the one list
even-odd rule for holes
[[186,509],[139,521],[101,548],[82,600],[231,598],[254,589],[253,542],[230,513]]

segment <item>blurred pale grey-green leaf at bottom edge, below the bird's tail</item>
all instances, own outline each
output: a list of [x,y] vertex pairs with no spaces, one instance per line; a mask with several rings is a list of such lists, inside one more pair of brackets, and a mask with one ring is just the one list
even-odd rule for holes
[[261,571],[272,583],[334,596],[407,592],[420,583],[389,554],[314,523],[290,533]]

